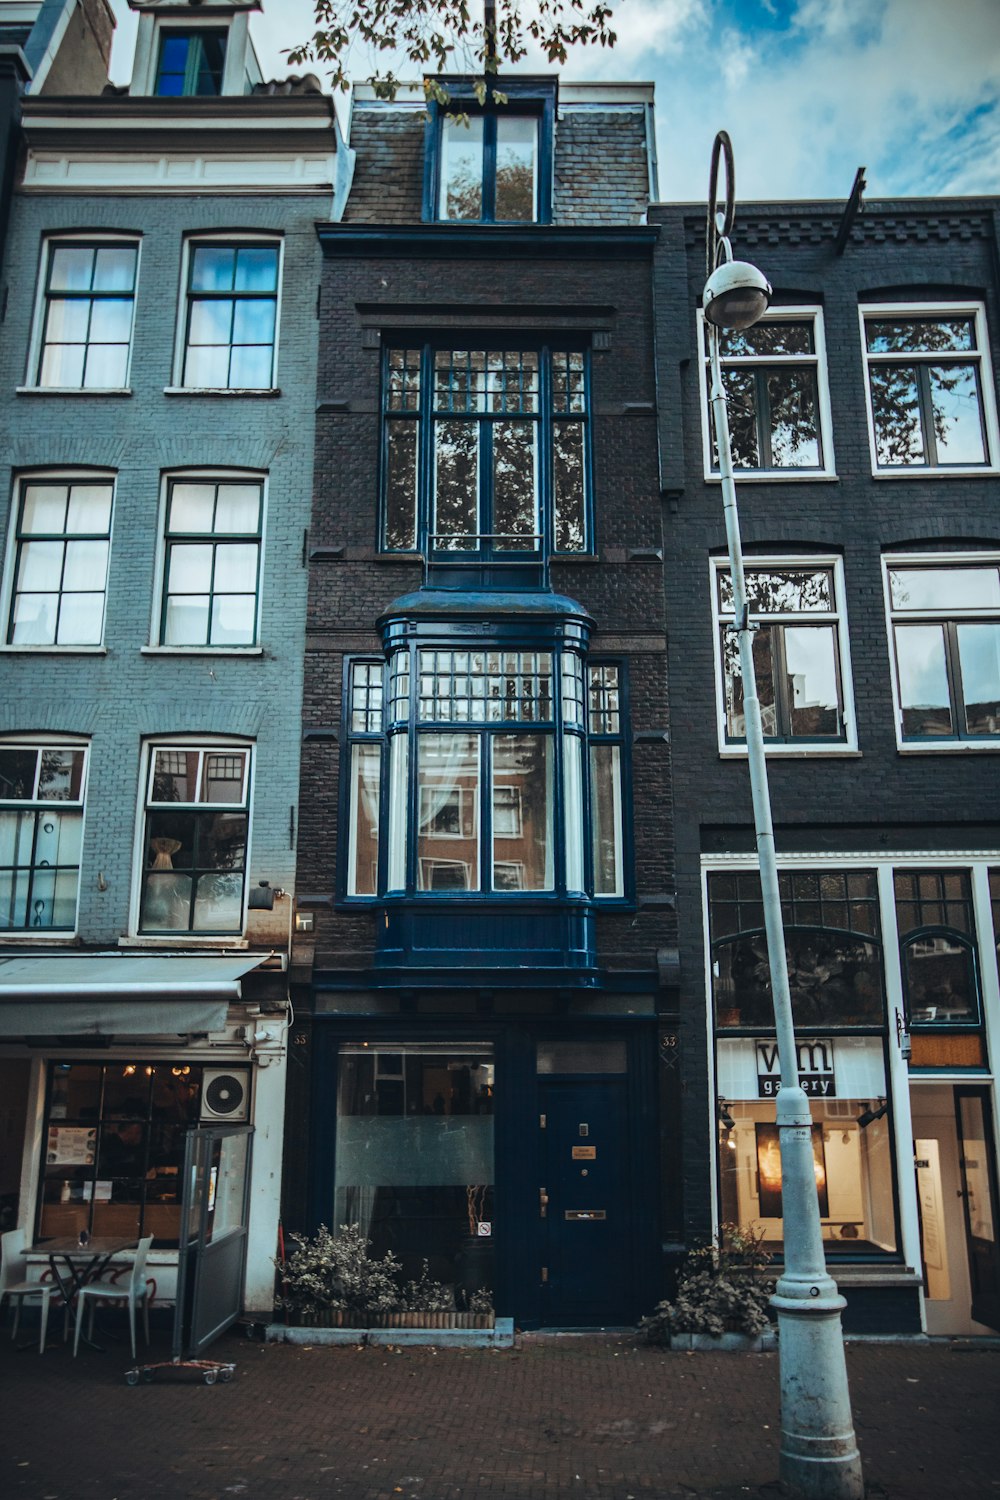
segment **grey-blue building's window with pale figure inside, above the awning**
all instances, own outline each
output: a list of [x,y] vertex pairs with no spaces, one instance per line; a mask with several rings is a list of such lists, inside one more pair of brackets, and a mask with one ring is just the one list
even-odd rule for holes
[[150,752],[139,932],[243,930],[249,776],[235,746]]

